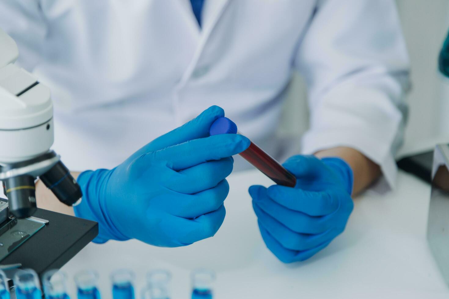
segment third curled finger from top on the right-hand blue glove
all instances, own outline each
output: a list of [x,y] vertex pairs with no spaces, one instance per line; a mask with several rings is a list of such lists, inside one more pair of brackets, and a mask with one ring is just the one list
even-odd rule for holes
[[334,239],[343,230],[330,229],[321,234],[298,234],[253,204],[259,225],[263,226],[282,247],[290,250],[304,251],[312,249]]

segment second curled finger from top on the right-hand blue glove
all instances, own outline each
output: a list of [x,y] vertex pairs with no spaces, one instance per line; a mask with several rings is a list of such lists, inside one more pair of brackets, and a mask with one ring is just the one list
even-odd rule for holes
[[330,215],[315,217],[285,208],[270,199],[263,186],[251,186],[249,192],[254,204],[296,233],[320,234],[332,227]]

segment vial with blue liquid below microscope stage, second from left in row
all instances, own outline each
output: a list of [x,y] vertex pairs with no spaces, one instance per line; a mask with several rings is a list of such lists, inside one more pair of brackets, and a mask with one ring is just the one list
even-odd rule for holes
[[33,269],[22,269],[14,275],[17,299],[42,299],[39,277]]

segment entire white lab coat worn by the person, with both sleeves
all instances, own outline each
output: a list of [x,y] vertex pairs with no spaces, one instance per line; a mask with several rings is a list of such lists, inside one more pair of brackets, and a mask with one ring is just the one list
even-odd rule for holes
[[2,0],[19,63],[47,84],[55,150],[111,168],[216,104],[277,156],[284,91],[299,70],[302,152],[349,146],[394,184],[408,56],[394,0]]

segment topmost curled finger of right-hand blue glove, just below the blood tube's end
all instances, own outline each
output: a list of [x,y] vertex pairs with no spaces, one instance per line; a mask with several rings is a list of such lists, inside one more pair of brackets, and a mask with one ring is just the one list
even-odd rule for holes
[[339,208],[337,196],[330,191],[307,191],[280,185],[269,186],[268,196],[278,204],[310,216],[323,216]]

